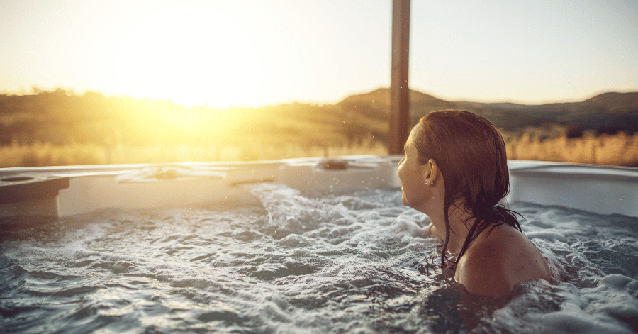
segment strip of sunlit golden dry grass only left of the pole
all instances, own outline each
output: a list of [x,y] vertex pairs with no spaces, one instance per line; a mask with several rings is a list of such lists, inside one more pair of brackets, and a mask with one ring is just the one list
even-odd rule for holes
[[343,145],[96,145],[71,144],[0,146],[0,167],[104,165],[152,162],[276,160],[292,157],[385,155],[387,148],[373,138]]

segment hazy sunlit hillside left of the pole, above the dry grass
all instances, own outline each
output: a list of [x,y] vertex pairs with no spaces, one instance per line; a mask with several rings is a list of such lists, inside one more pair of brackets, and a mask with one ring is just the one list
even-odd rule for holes
[[62,89],[0,95],[0,145],[351,145],[383,142],[386,120],[334,105],[280,104],[261,108],[186,108],[171,101],[135,100]]

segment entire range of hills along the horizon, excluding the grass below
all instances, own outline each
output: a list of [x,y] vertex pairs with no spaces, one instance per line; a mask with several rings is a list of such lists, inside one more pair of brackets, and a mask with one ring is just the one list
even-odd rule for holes
[[[262,108],[186,108],[171,101],[135,100],[62,89],[0,95],[0,145],[19,143],[298,143],[352,145],[361,138],[386,143],[389,89],[348,96],[338,104],[281,104]],[[445,101],[410,91],[411,122],[431,111],[478,113],[503,130],[559,124],[573,133],[638,131],[638,93],[605,93],[580,102],[542,105]]]

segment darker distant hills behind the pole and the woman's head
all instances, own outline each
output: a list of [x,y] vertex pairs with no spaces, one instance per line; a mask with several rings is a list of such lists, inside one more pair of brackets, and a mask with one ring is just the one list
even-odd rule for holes
[[[368,117],[387,118],[390,110],[389,89],[348,96],[338,105]],[[581,102],[554,104],[481,103],[444,101],[434,96],[410,91],[410,119],[416,123],[426,113],[441,109],[461,109],[477,113],[507,130],[558,123],[581,130],[627,133],[638,131],[638,92],[603,93]]]

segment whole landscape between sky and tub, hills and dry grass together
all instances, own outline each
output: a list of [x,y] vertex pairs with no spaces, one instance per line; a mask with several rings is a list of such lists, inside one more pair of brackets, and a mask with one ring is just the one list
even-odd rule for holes
[[[339,104],[186,108],[63,89],[0,95],[0,167],[386,155],[388,89]],[[412,91],[411,122],[441,108],[501,128],[508,158],[638,167],[638,93],[571,104],[448,102]],[[512,110],[508,108],[512,108]],[[632,127],[633,126],[633,127]],[[594,130],[595,129],[595,130]],[[634,133],[627,135],[627,133]]]

